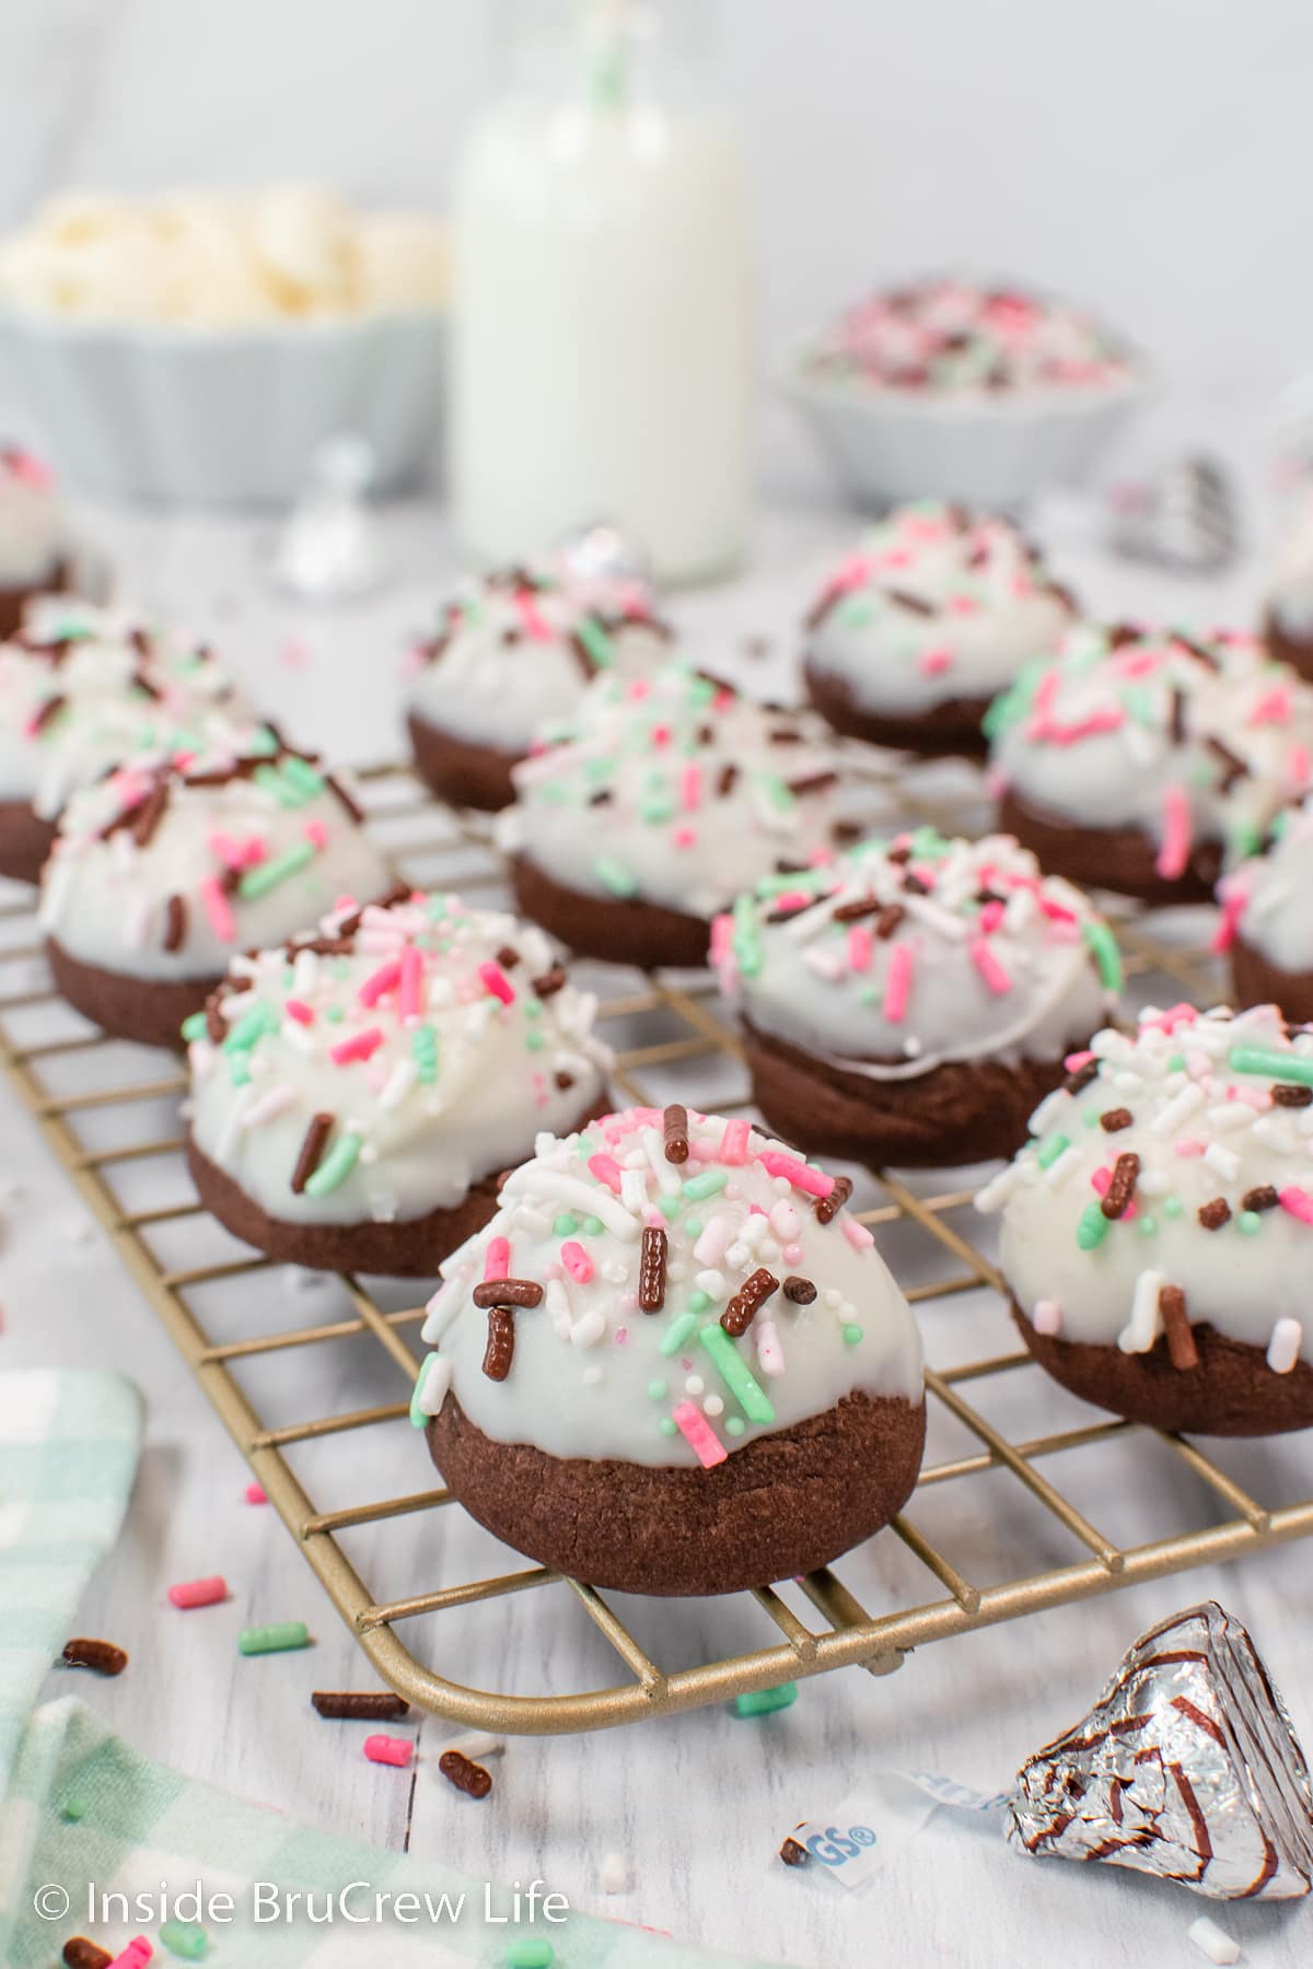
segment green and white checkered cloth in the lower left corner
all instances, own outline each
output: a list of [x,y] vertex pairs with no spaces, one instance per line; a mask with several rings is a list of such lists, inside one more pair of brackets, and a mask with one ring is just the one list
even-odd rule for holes
[[[728,1969],[730,1959],[618,1922],[569,1914],[561,1924],[490,1928],[484,1882],[404,1853],[293,1825],[278,1811],[195,1784],[132,1750],[81,1701],[33,1709],[79,1597],[122,1524],[142,1435],[136,1390],[114,1374],[0,1374],[0,1963],[51,1969],[71,1934],[124,1949],[142,1934],[156,1961],[157,1918],[94,1928],[87,1882],[100,1894],[179,1892],[203,1882],[232,1896],[232,1920],[203,1920],[205,1959],[240,1969],[498,1969],[508,1939],[543,1939],[557,1969]],[[77,1815],[71,1815],[69,1808]],[[256,1898],[256,1882],[270,1892]],[[323,1916],[348,1882],[352,1914],[374,1894],[417,1896],[417,1920],[313,1924],[256,1920],[311,1894]],[[67,1916],[39,1920],[37,1888],[67,1892]],[[496,1888],[494,1908],[502,1908]],[[276,1898],[278,1896],[278,1898]],[[429,1918],[425,1896],[447,1914]],[[461,1912],[451,1918],[453,1906]],[[49,1906],[49,1902],[47,1902]],[[226,1910],[224,1910],[226,1912]],[[740,1969],[764,1965],[740,1963]]]

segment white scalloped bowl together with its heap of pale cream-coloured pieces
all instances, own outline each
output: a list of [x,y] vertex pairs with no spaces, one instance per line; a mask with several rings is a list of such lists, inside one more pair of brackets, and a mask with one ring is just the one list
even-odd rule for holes
[[421,482],[443,412],[447,238],[329,191],[69,193],[0,240],[0,358],[65,480],[280,504],[325,439]]

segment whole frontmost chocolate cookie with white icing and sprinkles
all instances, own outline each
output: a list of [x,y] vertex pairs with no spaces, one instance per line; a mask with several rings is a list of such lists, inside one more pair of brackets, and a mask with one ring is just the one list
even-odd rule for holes
[[846,1185],[746,1120],[630,1109],[512,1172],[443,1266],[413,1418],[465,1508],[634,1593],[811,1571],[921,1463],[921,1341]]

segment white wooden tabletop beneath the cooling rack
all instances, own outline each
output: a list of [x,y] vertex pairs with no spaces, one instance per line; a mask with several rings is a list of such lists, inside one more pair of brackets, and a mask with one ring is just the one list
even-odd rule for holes
[[[211,632],[299,740],[352,760],[396,752],[400,638],[425,620],[453,559],[439,514],[394,514],[388,538],[406,579],[368,604],[327,616],[280,606],[260,589],[256,534],[246,524],[102,522],[124,591]],[[815,555],[835,538],[837,522],[825,512],[776,514],[762,530],[764,571],[732,591],[693,597],[679,612],[707,638],[709,654],[738,650],[762,632],[782,656]],[[1226,612],[1242,620],[1238,610],[1252,608],[1252,569],[1226,585],[1177,585],[1110,563],[1079,528],[1059,561],[1094,606],[1118,614],[1161,612],[1207,624]],[[289,648],[289,638],[299,644]],[[791,1709],[764,1721],[709,1709],[618,1733],[518,1739],[496,1762],[496,1792],[482,1806],[437,1776],[435,1752],[451,1733],[427,1721],[411,1796],[404,1772],[364,1762],[343,1725],[311,1713],[313,1687],[368,1687],[368,1666],[274,1512],[242,1502],[240,1459],[4,1087],[0,1185],[0,1366],[116,1366],[148,1400],[128,1528],[81,1615],[85,1632],[122,1642],[134,1666],[118,1682],[83,1678],[77,1685],[142,1750],[327,1833],[409,1845],[474,1876],[541,1876],[573,1906],[813,1969],[884,1961],[900,1969],[1051,1969],[1055,1959],[1165,1969],[1201,1959],[1185,1930],[1205,1908],[1183,1890],[1112,1869],[1028,1863],[959,1815],[939,1813],[904,1863],[864,1894],[843,1894],[815,1869],[789,1873],[774,1855],[797,1817],[829,1813],[860,1792],[864,1772],[923,1768],[982,1790],[1004,1786],[1032,1748],[1087,1709],[1136,1632],[1205,1595],[1250,1624],[1313,1743],[1309,1550],[1285,1548],[1242,1567],[943,1642],[892,1678],[831,1674],[803,1683]],[[285,1323],[299,1317],[295,1307],[281,1311]],[[982,1317],[994,1315],[969,1302],[937,1311],[927,1331],[931,1361],[988,1351]],[[1004,1341],[1002,1331],[994,1337]],[[346,1408],[362,1390],[319,1388],[317,1396]],[[1282,1459],[1309,1455],[1307,1441],[1258,1445],[1246,1451],[1244,1467],[1262,1485],[1278,1467],[1289,1469]],[[1142,1518],[1157,1508],[1201,1510],[1201,1493],[1175,1465],[1157,1473],[1152,1498],[1120,1463],[1110,1461],[1108,1473],[1094,1506],[1118,1536],[1144,1536]],[[415,1487],[423,1483],[417,1469]],[[963,1536],[963,1526],[957,1530]],[[1033,1546],[1035,1528],[1010,1522],[1006,1510],[984,1510],[965,1534],[976,1577],[988,1577],[992,1563],[1028,1550],[1026,1540]],[[1067,1550],[1051,1532],[1043,1536],[1047,1563],[1061,1563]],[[884,1556],[884,1542],[876,1554],[872,1581],[906,1589],[902,1554]],[[232,1601],[191,1615],[169,1609],[167,1583],[201,1573],[222,1573]],[[923,1575],[917,1591],[925,1591]],[[315,1648],[242,1660],[236,1628],[274,1619],[305,1619]],[[685,1609],[679,1620],[683,1646],[697,1619]],[[496,1626],[486,1632],[484,1666],[494,1683],[504,1664]],[[553,1638],[553,1646],[565,1644]],[[596,1666],[596,1654],[589,1662]],[[51,1676],[51,1691],[67,1687],[67,1678]],[[596,1882],[608,1851],[626,1853],[634,1874],[632,1892],[616,1898],[602,1896]],[[1309,1961],[1313,1916],[1303,1906],[1224,1908],[1219,1920],[1264,1969]]]

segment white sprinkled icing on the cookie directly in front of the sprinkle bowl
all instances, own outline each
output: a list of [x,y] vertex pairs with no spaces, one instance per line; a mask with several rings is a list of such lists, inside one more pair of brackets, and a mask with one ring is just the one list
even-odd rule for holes
[[1073,612],[1010,520],[917,500],[835,569],[807,618],[805,656],[858,709],[904,717],[994,697]]

